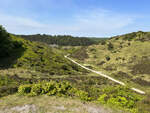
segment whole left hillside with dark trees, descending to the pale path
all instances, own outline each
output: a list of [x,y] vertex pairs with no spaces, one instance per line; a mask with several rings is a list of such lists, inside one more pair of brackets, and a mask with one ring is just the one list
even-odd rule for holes
[[59,50],[10,35],[0,27],[0,97],[15,93],[20,84],[86,73],[65,59]]

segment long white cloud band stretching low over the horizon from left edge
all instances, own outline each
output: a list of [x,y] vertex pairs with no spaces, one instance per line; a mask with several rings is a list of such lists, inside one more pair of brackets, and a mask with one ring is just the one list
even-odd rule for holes
[[[68,17],[66,17],[68,18]],[[121,31],[134,22],[134,17],[126,14],[117,14],[107,10],[79,12],[68,24],[44,24],[31,18],[23,18],[0,14],[0,24],[11,33],[32,34],[71,34],[79,36],[107,36]],[[61,19],[60,19],[61,20]]]

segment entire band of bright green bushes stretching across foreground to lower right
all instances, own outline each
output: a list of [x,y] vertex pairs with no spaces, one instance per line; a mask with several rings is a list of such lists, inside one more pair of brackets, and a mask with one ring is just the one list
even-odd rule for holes
[[[93,87],[94,88],[94,87]],[[91,89],[89,89],[91,90]],[[92,89],[91,91],[93,91]],[[21,85],[18,89],[20,95],[37,96],[46,94],[48,96],[69,96],[77,97],[82,101],[98,101],[102,104],[116,106],[136,113],[136,103],[142,98],[123,86],[106,87],[101,90],[99,97],[89,92],[73,87],[69,82],[39,82],[30,85]]]

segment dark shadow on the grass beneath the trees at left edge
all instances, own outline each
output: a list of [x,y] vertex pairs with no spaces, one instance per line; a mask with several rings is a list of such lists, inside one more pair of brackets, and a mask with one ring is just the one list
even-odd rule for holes
[[8,53],[4,50],[5,55],[0,55],[0,69],[12,68],[13,65],[16,64],[17,59],[24,54],[25,50],[26,48],[19,42],[16,42]]

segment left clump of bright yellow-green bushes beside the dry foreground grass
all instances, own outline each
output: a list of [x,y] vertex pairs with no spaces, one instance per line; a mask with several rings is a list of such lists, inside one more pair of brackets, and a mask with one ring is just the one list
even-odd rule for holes
[[18,93],[21,95],[29,94],[29,96],[37,96],[42,94],[47,95],[68,95],[69,91],[72,89],[72,86],[69,82],[57,83],[54,81],[50,82],[41,82],[37,84],[30,85],[21,85],[18,89]]

